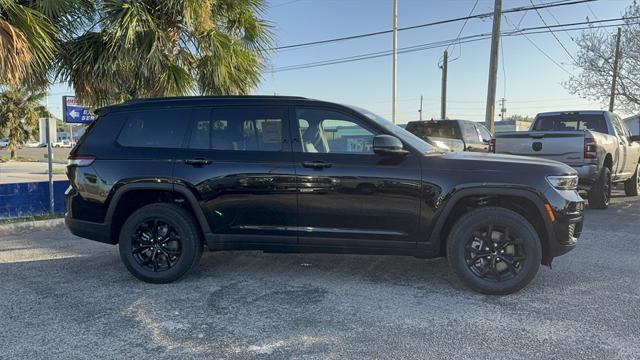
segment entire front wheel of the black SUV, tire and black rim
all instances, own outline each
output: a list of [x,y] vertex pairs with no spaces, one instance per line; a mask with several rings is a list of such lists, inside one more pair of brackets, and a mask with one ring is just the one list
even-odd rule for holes
[[[487,243],[484,239],[489,238],[489,229],[493,241]],[[447,239],[447,259],[467,287],[483,294],[505,295],[522,289],[536,276],[542,245],[524,217],[509,209],[485,207],[465,214],[453,226]]]

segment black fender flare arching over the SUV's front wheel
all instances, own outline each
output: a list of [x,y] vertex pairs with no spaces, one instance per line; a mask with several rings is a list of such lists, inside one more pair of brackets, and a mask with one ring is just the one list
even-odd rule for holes
[[[531,201],[538,209],[538,212],[540,213],[542,220],[544,222],[545,234],[540,234],[540,235],[544,235],[544,236],[540,236],[540,240],[544,242],[543,245],[545,245],[547,249],[551,249],[552,244],[555,242],[555,232],[553,231],[553,224],[551,223],[551,220],[546,215],[546,210],[544,208],[544,200],[539,195],[537,195],[535,192],[531,190],[522,189],[522,188],[513,188],[513,187],[504,188],[502,186],[494,187],[494,186],[485,185],[485,186],[474,186],[474,187],[469,187],[469,188],[460,189],[458,191],[454,191],[453,194],[449,197],[449,199],[446,200],[446,204],[444,205],[444,207],[442,207],[440,214],[437,215],[435,225],[429,236],[429,244],[433,247],[435,251],[440,252],[442,240],[446,240],[446,239],[441,239],[441,232],[442,232],[442,229],[444,228],[446,221],[449,218],[449,215],[451,214],[451,211],[453,211],[453,208],[456,206],[456,204],[458,204],[458,202],[461,199],[466,198],[468,196],[476,196],[476,195],[503,195],[503,196],[506,195],[506,196],[523,197]],[[543,254],[543,258],[547,255],[548,254]]]

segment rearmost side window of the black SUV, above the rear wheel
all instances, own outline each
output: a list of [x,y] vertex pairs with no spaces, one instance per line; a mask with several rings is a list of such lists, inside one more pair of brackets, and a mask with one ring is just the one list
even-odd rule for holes
[[187,109],[158,109],[135,111],[118,136],[118,143],[126,147],[179,148],[188,126]]

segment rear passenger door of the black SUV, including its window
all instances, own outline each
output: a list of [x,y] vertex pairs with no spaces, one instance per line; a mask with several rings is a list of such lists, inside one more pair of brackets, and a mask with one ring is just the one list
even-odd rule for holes
[[175,176],[195,191],[223,241],[297,243],[287,118],[284,106],[193,110]]

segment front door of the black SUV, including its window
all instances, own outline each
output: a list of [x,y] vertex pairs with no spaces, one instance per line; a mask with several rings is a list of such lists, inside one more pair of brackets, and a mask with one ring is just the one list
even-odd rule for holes
[[357,113],[292,111],[299,241],[306,245],[413,247],[420,208],[420,158],[383,157],[384,133]]

